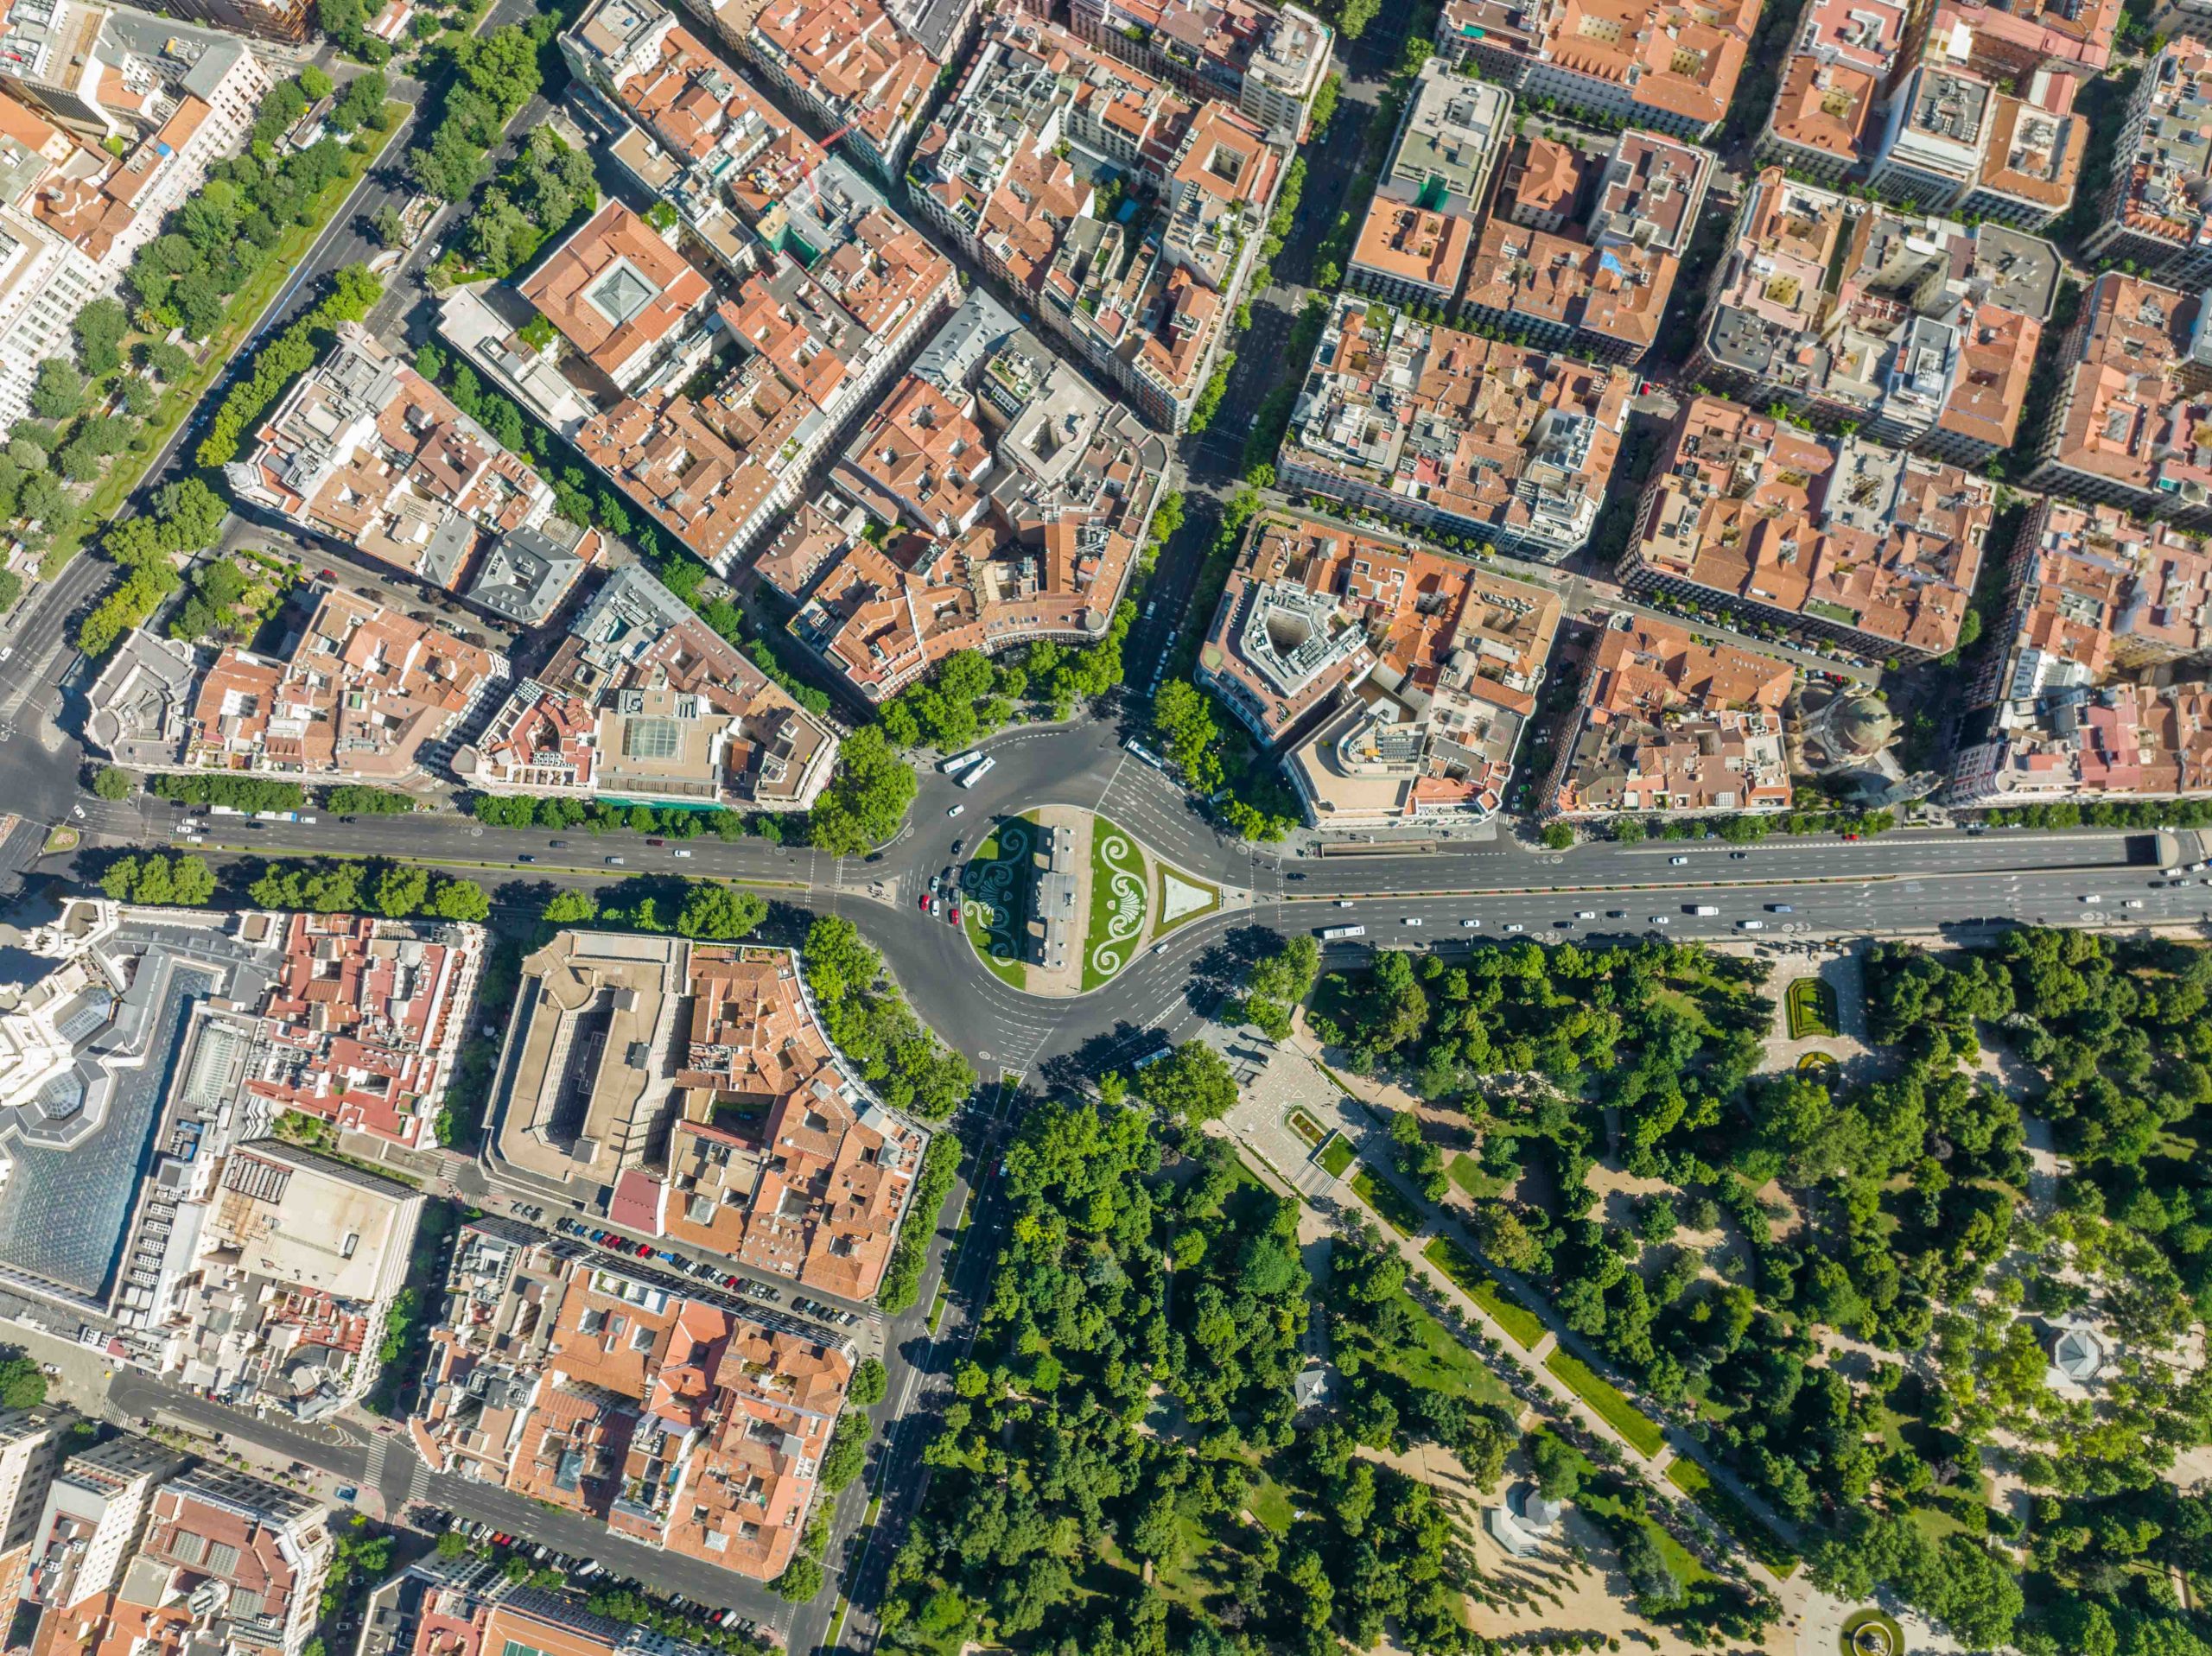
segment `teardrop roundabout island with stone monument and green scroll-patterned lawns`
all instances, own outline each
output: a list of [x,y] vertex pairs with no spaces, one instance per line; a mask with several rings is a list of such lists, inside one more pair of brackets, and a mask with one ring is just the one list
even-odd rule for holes
[[958,889],[960,926],[984,968],[1042,997],[1104,988],[1170,931],[1221,906],[1219,887],[1073,805],[1000,816]]

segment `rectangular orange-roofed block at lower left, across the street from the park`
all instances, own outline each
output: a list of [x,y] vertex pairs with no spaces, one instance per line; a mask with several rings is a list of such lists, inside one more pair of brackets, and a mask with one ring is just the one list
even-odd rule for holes
[[639,1260],[478,1220],[409,1419],[440,1470],[757,1581],[799,1550],[854,1351]]

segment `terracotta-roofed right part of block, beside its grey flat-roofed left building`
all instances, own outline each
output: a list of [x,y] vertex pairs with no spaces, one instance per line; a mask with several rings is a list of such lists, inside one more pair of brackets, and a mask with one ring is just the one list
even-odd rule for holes
[[1595,199],[1568,234],[1528,223],[1551,214],[1562,168],[1517,170],[1537,195],[1482,226],[1462,310],[1542,349],[1635,365],[1659,338],[1712,157],[1657,133],[1621,133],[1586,170]]

